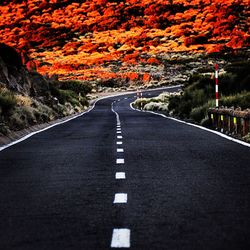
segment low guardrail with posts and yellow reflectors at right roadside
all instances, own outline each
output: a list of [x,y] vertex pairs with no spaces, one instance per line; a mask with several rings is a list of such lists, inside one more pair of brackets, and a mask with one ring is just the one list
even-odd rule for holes
[[250,132],[250,109],[209,109],[210,124],[216,130],[226,134],[245,136]]

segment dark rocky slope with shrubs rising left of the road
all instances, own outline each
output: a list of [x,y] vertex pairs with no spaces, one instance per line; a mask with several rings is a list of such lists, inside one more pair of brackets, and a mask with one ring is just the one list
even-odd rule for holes
[[0,136],[86,109],[90,90],[28,70],[14,48],[0,43]]

